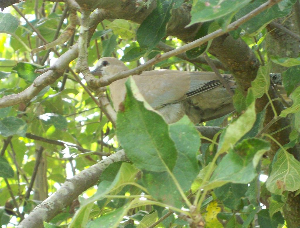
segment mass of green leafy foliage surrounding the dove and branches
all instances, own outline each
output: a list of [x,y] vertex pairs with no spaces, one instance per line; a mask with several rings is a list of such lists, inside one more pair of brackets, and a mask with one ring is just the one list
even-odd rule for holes
[[[159,42],[172,48],[183,46],[184,41],[168,36],[172,12],[181,9],[182,4],[192,7],[187,27],[203,23],[191,38],[195,40],[220,28],[226,31],[229,23],[266,1],[134,2],[136,11],[128,14],[147,11],[153,2],[156,5],[140,24],[121,18],[98,23],[95,32],[87,36],[88,66],[100,57],[115,56],[135,68],[163,53],[157,46]],[[97,187],[83,186],[79,197],[70,194],[73,203],[44,221],[44,227],[283,227],[289,216],[283,213],[288,192],[297,195],[300,191],[300,163],[287,151],[298,143],[300,132],[300,57],[268,58],[265,26],[287,16],[294,3],[283,0],[230,33],[252,48],[265,65],[259,68],[247,96],[236,90],[235,113],[199,124],[225,126],[211,139],[201,135],[187,116],[177,123],[165,123],[143,100],[132,78],[126,82],[127,95],[115,127],[95,102],[98,94],[80,84],[85,84],[83,75],[75,73],[80,58],[70,60],[47,84],[50,79],[42,76],[51,71],[43,71],[44,66],[51,67],[75,42],[80,43],[82,30],[77,26],[67,42],[55,44],[52,49],[36,54],[31,51],[66,35],[68,26],[76,24],[74,17],[81,17],[82,11],[72,14],[64,2],[23,1],[15,6],[27,21],[12,7],[0,12],[0,100],[41,88],[33,98],[25,94],[18,103],[12,103],[16,105],[1,106],[0,102],[2,227],[16,226],[36,205],[68,183],[67,178],[121,149],[128,160],[108,162],[101,175],[94,178]],[[211,41],[187,50],[190,62],[171,56],[151,69],[212,71],[203,62],[195,62],[209,50]],[[292,99],[289,107],[278,114],[268,92],[272,64],[285,67],[283,86]],[[255,102],[262,96],[267,96],[269,103],[257,113]],[[268,124],[264,124],[268,105],[274,114],[271,121],[287,116],[291,120],[288,144],[279,145],[274,158],[266,155],[270,141],[279,144],[264,128]],[[259,181],[263,175],[269,176],[265,183]]]

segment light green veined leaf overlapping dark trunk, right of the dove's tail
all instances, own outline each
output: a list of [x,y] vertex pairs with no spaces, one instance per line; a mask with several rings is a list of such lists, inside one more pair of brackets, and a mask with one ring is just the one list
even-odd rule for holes
[[257,76],[251,82],[252,92],[255,98],[260,98],[268,93],[270,86],[269,65],[260,66]]

